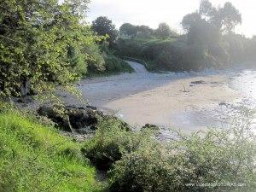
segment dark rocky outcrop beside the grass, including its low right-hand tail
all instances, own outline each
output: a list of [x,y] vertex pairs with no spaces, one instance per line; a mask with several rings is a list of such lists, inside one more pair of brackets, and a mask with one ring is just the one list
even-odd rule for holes
[[92,106],[44,106],[38,108],[38,114],[51,119],[62,131],[79,134],[95,133],[100,119],[113,119],[118,122],[120,129],[131,131],[131,126],[124,121],[112,115],[104,115]]

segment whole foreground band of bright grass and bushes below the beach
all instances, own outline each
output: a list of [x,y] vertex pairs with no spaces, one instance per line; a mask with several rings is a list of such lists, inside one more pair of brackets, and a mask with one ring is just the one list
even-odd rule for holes
[[[1,104],[1,191],[100,191],[89,160],[109,171],[104,190],[114,192],[253,192],[256,187],[256,140],[246,119],[236,119],[227,130],[177,132],[160,143],[159,129],[134,132],[109,117],[98,122],[95,137],[75,143],[49,120],[27,114]],[[211,186],[201,186],[207,183]]]

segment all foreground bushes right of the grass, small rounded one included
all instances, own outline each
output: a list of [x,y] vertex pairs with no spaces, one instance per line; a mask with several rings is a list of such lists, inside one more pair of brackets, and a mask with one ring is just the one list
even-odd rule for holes
[[83,151],[98,168],[110,168],[110,190],[114,192],[253,192],[256,140],[247,122],[236,119],[230,129],[203,134],[177,133],[174,140],[160,143],[153,137],[159,134],[157,129],[127,132],[108,120],[98,126],[96,137],[85,143]]

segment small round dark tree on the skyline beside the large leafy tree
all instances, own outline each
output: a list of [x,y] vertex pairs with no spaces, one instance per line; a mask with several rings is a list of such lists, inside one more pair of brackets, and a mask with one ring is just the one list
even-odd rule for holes
[[113,45],[118,36],[118,31],[115,29],[112,20],[109,20],[108,17],[98,17],[96,20],[92,21],[91,28],[98,35],[108,35],[108,42],[111,45]]

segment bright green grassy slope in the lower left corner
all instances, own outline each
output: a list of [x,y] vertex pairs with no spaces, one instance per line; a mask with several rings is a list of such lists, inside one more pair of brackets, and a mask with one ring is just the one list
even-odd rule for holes
[[0,191],[100,191],[80,148],[18,112],[0,113]]

